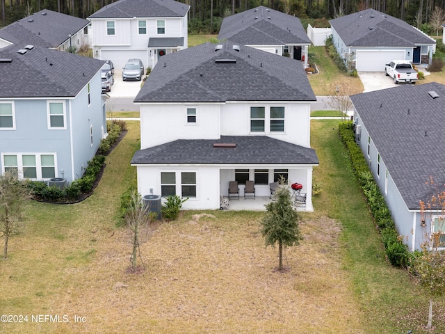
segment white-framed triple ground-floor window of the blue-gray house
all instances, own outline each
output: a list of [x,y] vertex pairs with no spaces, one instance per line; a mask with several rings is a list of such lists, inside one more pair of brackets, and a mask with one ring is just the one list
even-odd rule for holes
[[48,180],[56,177],[55,156],[54,153],[2,154],[2,172],[12,170],[20,180]]

